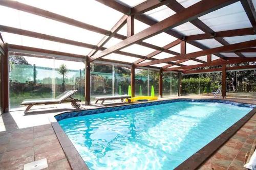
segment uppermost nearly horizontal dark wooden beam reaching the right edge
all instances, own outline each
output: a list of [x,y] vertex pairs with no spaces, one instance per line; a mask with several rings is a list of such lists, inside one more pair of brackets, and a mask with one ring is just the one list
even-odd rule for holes
[[253,28],[245,28],[245,29],[215,32],[214,35],[209,35],[209,34],[190,35],[190,36],[187,36],[185,40],[195,41],[195,40],[203,40],[203,39],[210,39],[210,38],[236,37],[236,36],[254,35],[254,34],[255,33],[253,32]]

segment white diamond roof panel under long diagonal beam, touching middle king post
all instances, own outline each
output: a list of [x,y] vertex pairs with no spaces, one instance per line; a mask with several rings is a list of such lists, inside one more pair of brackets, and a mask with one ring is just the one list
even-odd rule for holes
[[163,47],[164,45],[167,45],[175,40],[177,40],[177,38],[170,36],[169,34],[160,33],[153,37],[145,39],[144,42]]

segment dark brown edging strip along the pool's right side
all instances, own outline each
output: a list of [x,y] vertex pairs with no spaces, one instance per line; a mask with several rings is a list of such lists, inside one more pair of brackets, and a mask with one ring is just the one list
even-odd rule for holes
[[214,154],[225,142],[231,138],[248,120],[256,113],[256,108],[247,113],[243,118],[238,120],[235,124],[225,130],[222,134],[216,137],[214,140],[206,144],[202,149],[190,156],[175,170],[184,169],[196,169],[202,165],[212,154]]

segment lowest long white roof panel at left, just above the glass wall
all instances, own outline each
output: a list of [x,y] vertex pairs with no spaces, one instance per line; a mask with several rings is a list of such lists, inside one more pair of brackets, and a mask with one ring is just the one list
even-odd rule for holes
[[6,43],[23,45],[35,48],[42,48],[45,50],[53,50],[71,54],[87,55],[91,49],[59,42],[48,41],[44,39],[32,38],[17,34],[1,32]]

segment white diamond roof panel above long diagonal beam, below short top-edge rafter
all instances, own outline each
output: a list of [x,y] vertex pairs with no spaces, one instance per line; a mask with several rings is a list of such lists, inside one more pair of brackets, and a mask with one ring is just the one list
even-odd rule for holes
[[168,8],[167,6],[163,5],[163,6],[160,6],[158,8],[155,8],[153,10],[147,11],[144,14],[154,18],[157,21],[161,21],[165,18],[168,18],[169,16],[172,16],[175,13],[176,12],[174,12],[173,10]]

